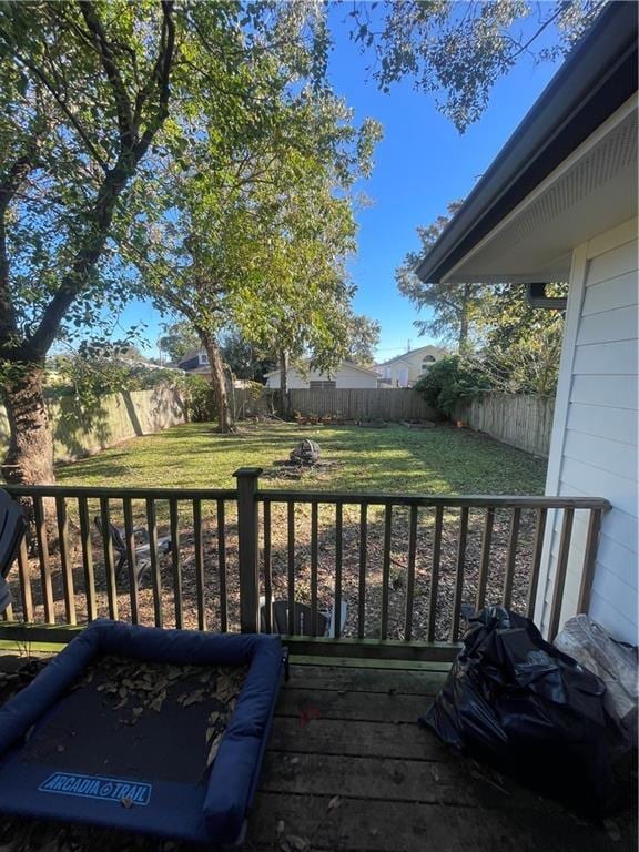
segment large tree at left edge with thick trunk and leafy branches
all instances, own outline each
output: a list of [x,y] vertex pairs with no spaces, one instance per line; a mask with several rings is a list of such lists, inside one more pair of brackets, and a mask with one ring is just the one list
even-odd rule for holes
[[0,7],[0,381],[9,481],[53,480],[44,358],[93,321],[118,205],[169,114],[172,0]]

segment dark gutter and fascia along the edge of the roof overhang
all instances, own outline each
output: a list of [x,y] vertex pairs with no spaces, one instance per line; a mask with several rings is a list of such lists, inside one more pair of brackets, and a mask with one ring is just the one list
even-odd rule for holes
[[463,281],[454,267],[637,91],[637,11],[606,6],[424,257],[422,281]]

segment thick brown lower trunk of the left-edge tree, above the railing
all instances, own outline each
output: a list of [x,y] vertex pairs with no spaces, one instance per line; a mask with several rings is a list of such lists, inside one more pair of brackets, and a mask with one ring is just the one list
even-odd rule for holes
[[9,418],[9,450],[1,466],[4,479],[14,485],[51,485],[53,438],[42,395],[42,364],[28,364],[2,388]]

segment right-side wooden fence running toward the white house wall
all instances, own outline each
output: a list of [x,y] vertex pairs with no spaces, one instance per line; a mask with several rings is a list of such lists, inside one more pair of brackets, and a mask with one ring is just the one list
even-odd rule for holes
[[548,458],[554,410],[551,398],[490,392],[458,406],[455,418],[496,440]]

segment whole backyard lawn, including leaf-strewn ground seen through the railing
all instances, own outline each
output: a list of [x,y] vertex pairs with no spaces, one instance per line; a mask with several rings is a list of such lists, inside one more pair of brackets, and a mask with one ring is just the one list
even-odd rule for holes
[[[295,471],[282,466],[294,446],[305,437],[316,439],[322,448],[325,466],[305,471],[301,478],[290,478]],[[353,493],[389,491],[408,494],[541,494],[545,463],[524,453],[498,444],[484,435],[456,429],[446,424],[428,429],[408,429],[404,426],[386,428],[300,427],[281,422],[242,424],[235,435],[222,436],[211,424],[187,424],[149,437],[139,437],[82,462],[61,466],[60,485],[108,486],[113,489],[110,500],[111,520],[124,526],[123,504],[119,490],[125,487],[233,488],[233,471],[240,467],[262,467],[263,488],[345,490]],[[176,600],[174,590],[181,589],[180,609],[183,625],[197,626],[199,600],[203,600],[210,629],[231,629],[239,626],[239,557],[237,518],[233,499],[202,501],[201,547],[203,577],[197,579],[196,534],[194,507],[182,499],[174,505],[175,517],[170,517],[166,499],[153,505],[159,536],[172,536],[174,548],[159,558],[161,578],[153,587],[146,571],[136,589],[139,617],[143,623],[160,621],[175,626]],[[287,598],[287,582],[294,572],[295,598],[310,602],[313,584],[313,545],[311,537],[311,504],[295,504],[290,508],[273,503],[268,520],[260,507],[260,541],[262,588],[265,594],[270,578],[275,600]],[[149,526],[149,506],[142,498],[131,501],[135,525]],[[68,549],[72,564],[72,594],[77,617],[87,617],[87,575],[80,518],[75,498],[67,499]],[[390,565],[388,581],[388,636],[404,636],[407,601],[407,554],[409,510],[395,506],[390,518],[382,506],[367,507],[366,537],[362,538],[361,507],[354,500],[341,508],[341,537],[337,541],[336,507],[321,504],[316,517],[316,582],[321,607],[328,610],[335,597],[337,551],[341,552],[342,599],[348,616],[344,626],[347,636],[357,631],[357,609],[361,600],[361,547],[366,551],[365,632],[379,635],[382,598],[384,592],[384,561]],[[105,546],[94,521],[101,514],[101,504],[90,498],[87,517],[90,518],[90,539],[97,607],[99,615],[109,615],[108,582],[104,561]],[[429,589],[434,552],[434,510],[424,507],[418,513],[416,529],[416,564],[414,587],[414,638],[422,639],[428,623]],[[479,561],[486,510],[471,508],[467,518],[463,571],[463,600],[476,599]],[[490,545],[490,570],[486,600],[499,602],[504,588],[506,554],[510,538],[513,514],[498,509],[494,514]],[[392,526],[387,526],[390,524]],[[270,529],[268,565],[265,527]],[[387,529],[390,534],[387,535]],[[515,562],[513,605],[524,610],[530,577],[530,559],[535,514],[524,510],[520,516],[518,547]],[[442,554],[437,586],[436,638],[445,640],[450,631],[454,589],[457,582],[458,541],[460,536],[459,509],[447,509],[443,516]],[[54,580],[53,598],[58,618],[64,617],[64,582],[58,552],[50,554]],[[37,613],[42,612],[40,566],[32,558],[32,591]],[[199,584],[201,598],[199,597]],[[18,588],[14,589],[19,601]],[[132,617],[131,587],[126,571],[116,579],[116,612],[120,618]],[[364,600],[364,598],[362,598]],[[363,604],[364,606],[364,604]],[[160,611],[163,616],[159,616]],[[115,610],[113,610],[115,611]],[[226,621],[227,618],[227,621]]]

